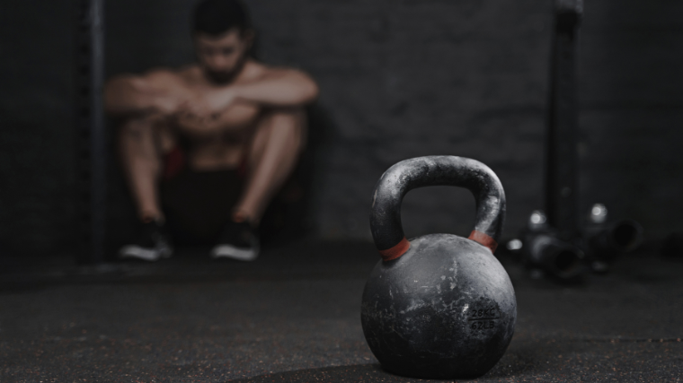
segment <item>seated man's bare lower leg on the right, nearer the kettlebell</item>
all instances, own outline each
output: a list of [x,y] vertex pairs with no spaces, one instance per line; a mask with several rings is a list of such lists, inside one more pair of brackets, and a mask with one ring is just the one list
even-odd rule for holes
[[249,151],[247,183],[235,205],[236,221],[258,225],[272,196],[294,170],[305,139],[304,109],[273,111],[259,121]]

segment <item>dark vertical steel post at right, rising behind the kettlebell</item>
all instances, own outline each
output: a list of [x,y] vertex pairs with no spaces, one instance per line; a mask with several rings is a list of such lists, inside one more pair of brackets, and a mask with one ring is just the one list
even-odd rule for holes
[[578,234],[576,101],[577,32],[582,0],[556,0],[546,134],[546,213],[561,239]]

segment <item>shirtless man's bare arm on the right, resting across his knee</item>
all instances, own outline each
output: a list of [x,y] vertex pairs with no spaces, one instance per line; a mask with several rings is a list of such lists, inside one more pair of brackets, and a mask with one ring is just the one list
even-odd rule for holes
[[254,80],[235,83],[208,94],[213,110],[223,110],[236,101],[267,107],[302,107],[318,96],[318,85],[296,69],[267,69]]

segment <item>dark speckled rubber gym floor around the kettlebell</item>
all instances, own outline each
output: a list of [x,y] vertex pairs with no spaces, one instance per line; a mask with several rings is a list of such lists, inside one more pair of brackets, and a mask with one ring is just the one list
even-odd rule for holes
[[[413,382],[359,320],[371,244],[291,244],[253,263],[186,250],[156,264],[4,262],[2,382]],[[683,262],[641,251],[558,285],[501,256],[517,330],[481,382],[680,382]]]

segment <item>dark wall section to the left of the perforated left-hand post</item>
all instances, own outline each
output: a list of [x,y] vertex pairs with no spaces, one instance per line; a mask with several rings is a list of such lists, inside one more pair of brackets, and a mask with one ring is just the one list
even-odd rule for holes
[[73,243],[71,10],[57,1],[0,4],[0,254]]

